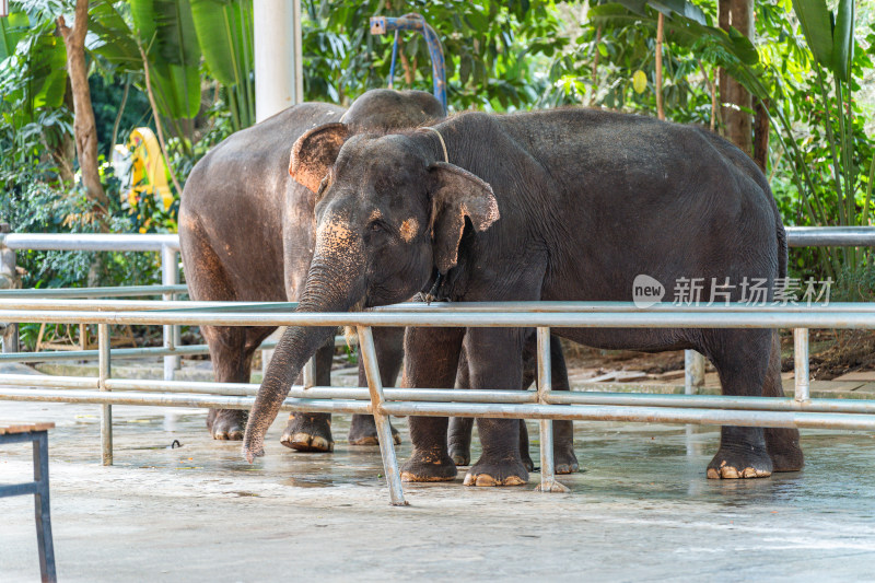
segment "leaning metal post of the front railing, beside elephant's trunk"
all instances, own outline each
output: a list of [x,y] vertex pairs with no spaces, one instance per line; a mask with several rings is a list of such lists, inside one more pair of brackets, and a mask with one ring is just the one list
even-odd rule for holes
[[398,471],[398,457],[395,455],[395,440],[392,438],[389,418],[383,412],[383,381],[380,378],[380,368],[374,348],[374,335],[370,326],[359,326],[359,349],[362,354],[364,374],[368,377],[368,390],[371,393],[371,412],[376,423],[376,435],[380,440],[380,453],[383,455],[383,471],[386,474],[386,483],[389,487],[389,497],[393,506],[406,506],[401,475]]

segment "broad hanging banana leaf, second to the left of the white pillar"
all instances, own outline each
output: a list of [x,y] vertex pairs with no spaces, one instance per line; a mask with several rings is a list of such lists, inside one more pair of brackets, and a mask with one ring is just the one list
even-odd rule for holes
[[130,9],[159,108],[175,119],[195,117],[200,109],[200,47],[189,0],[130,0]]

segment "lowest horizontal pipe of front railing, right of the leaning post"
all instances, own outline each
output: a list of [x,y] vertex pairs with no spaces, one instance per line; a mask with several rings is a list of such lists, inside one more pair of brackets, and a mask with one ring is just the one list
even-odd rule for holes
[[381,407],[386,415],[425,417],[485,417],[508,419],[562,419],[578,421],[635,421],[645,423],[693,423],[772,428],[851,429],[872,431],[875,416],[796,412],[725,411],[672,407],[623,407],[617,405],[498,405],[395,401]]

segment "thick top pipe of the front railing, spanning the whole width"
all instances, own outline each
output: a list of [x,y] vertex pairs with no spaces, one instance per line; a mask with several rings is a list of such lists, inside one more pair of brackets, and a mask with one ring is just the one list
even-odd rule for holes
[[180,324],[188,326],[424,326],[552,328],[875,328],[875,313],[749,312],[703,313],[441,313],[295,312],[255,314],[209,312],[45,312],[0,310],[0,322],[83,324]]

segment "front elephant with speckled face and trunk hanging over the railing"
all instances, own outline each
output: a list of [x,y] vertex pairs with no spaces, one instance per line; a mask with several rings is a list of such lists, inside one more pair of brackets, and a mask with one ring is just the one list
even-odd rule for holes
[[[786,234],[766,177],[735,145],[692,126],[565,108],[465,113],[428,128],[351,136],[341,125],[295,144],[291,172],[317,190],[316,245],[299,312],[392,304],[416,292],[455,302],[628,301],[645,275],[712,282],[705,300],[768,299],[786,277]],[[721,289],[713,284],[726,283]],[[555,328],[606,349],[695,349],[733,396],[781,396],[771,329]],[[290,327],[243,440],[249,462],[301,366],[330,336]],[[452,387],[463,345],[472,388],[515,388],[530,329],[410,327],[402,385]],[[502,358],[495,358],[497,354]],[[446,418],[411,417],[406,481],[452,480]],[[526,483],[520,423],[479,419],[482,455],[466,486]],[[793,471],[795,429],[721,428],[708,478]]]

